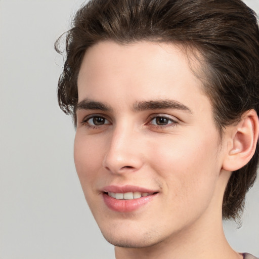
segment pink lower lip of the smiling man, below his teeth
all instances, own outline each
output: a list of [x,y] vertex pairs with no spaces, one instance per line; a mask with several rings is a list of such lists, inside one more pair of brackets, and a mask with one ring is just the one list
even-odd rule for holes
[[156,196],[156,194],[132,200],[118,200],[110,197],[106,193],[103,193],[103,199],[106,206],[111,210],[118,212],[131,212],[137,210],[138,208],[150,202],[154,198],[154,196]]

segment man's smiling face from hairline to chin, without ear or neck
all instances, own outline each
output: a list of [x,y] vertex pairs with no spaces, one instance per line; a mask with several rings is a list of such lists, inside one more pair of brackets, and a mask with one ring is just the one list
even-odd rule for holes
[[221,214],[219,134],[180,47],[100,42],[78,96],[76,170],[109,242],[150,246]]

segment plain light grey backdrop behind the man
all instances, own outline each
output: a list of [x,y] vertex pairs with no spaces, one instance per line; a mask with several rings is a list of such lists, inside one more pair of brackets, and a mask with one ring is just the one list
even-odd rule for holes
[[[245,1],[259,13],[258,0]],[[0,258],[114,258],[76,176],[74,128],[57,105],[55,39],[79,0],[0,0]],[[259,256],[259,181],[231,245]]]

